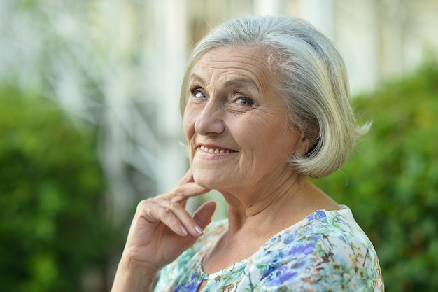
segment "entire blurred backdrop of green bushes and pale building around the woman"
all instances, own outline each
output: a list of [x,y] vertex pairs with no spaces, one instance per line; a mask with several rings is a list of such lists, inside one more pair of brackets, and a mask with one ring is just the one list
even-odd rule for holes
[[229,18],[271,13],[337,44],[373,121],[315,183],[353,209],[386,291],[438,291],[436,0],[2,0],[0,291],[109,291],[136,204],[188,169],[190,49]]

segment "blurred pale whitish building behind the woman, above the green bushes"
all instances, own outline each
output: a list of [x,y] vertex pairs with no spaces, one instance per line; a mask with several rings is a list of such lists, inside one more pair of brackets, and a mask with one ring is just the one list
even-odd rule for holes
[[[115,218],[188,168],[178,97],[190,48],[246,14],[311,21],[344,55],[353,94],[438,48],[435,0],[111,0],[0,3],[0,80],[35,88],[100,132]],[[78,127],[80,123],[78,123]]]

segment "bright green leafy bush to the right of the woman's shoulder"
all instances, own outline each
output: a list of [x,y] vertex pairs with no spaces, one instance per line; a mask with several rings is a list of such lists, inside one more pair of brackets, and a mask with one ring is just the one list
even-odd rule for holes
[[315,183],[353,210],[387,292],[438,291],[438,66],[353,104],[372,128],[340,172]]

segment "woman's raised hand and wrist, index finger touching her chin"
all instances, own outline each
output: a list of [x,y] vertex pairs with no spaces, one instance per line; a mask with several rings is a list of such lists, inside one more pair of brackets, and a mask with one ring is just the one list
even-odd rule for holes
[[113,291],[150,288],[155,274],[195,243],[211,222],[216,204],[206,202],[193,217],[185,210],[185,205],[189,197],[208,191],[193,181],[189,169],[174,190],[139,203],[115,275]]

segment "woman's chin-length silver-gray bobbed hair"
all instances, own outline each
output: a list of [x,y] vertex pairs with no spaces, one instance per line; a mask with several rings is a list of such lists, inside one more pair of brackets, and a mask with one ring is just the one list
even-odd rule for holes
[[358,135],[369,125],[355,125],[341,55],[327,37],[299,18],[247,16],[212,29],[192,51],[181,88],[181,113],[188,102],[192,68],[207,51],[226,46],[267,51],[276,90],[285,99],[292,125],[313,141],[306,155],[291,154],[295,170],[319,178],[344,165]]

